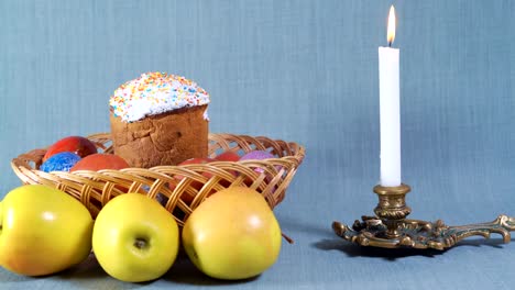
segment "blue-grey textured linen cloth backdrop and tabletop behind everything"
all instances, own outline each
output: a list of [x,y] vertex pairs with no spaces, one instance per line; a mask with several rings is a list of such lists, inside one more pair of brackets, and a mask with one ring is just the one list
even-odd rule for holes
[[295,239],[262,276],[206,278],[182,257],[131,285],[94,259],[59,275],[0,269],[0,289],[513,289],[515,241],[384,252],[337,238],[371,214],[379,180],[377,47],[397,11],[403,181],[414,219],[515,215],[514,1],[1,1],[0,197],[14,156],[109,131],[108,99],[145,71],[210,92],[210,131],[306,146],[275,213]]

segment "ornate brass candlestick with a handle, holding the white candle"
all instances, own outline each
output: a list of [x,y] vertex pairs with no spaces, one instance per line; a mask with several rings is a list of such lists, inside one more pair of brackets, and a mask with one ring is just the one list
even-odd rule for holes
[[362,221],[355,221],[352,228],[333,222],[335,233],[361,246],[383,248],[445,249],[469,236],[489,238],[492,233],[501,234],[504,243],[512,239],[509,232],[515,231],[515,217],[504,214],[493,222],[461,226],[448,226],[440,220],[434,223],[406,220],[412,212],[406,205],[406,194],[409,191],[410,188],[406,185],[374,187],[374,192],[379,196],[379,204],[374,209],[376,216],[362,216]]

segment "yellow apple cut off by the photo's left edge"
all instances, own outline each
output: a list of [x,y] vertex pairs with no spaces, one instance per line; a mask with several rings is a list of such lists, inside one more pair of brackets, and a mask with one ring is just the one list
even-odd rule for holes
[[58,272],[86,259],[94,221],[66,192],[22,186],[0,202],[0,265],[25,276]]

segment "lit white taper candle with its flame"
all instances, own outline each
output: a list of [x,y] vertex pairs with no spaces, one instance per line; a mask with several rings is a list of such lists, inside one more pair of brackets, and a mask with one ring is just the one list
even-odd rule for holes
[[[387,41],[395,38],[395,10],[390,9]],[[379,47],[381,186],[401,186],[401,101],[398,80],[399,51]]]

